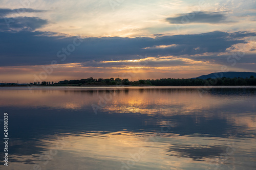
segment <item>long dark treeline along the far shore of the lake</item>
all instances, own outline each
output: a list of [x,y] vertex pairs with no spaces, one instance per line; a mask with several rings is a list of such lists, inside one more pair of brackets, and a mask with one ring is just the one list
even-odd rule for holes
[[144,86],[256,86],[256,78],[251,76],[250,78],[216,78],[216,79],[156,79],[156,80],[138,80],[129,81],[129,79],[94,79],[92,77],[81,80],[64,80],[58,83],[53,82],[38,82],[34,85],[144,85]]

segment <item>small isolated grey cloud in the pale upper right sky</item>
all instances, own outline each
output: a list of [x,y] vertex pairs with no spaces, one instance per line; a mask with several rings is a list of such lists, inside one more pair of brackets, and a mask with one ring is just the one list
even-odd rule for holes
[[191,13],[178,14],[175,17],[168,17],[165,20],[172,24],[188,24],[188,23],[226,23],[227,16],[223,12],[204,12],[195,11]]

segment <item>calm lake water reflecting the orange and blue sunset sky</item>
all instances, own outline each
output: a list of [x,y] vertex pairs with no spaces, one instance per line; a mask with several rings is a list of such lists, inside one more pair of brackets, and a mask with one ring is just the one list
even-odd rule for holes
[[0,169],[256,169],[256,88],[0,88],[5,112]]

